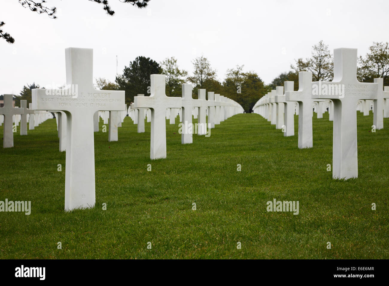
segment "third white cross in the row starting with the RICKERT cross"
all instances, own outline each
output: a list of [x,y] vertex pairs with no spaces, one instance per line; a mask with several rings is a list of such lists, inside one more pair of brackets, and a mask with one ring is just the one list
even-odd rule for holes
[[[192,98],[192,85],[182,84],[182,123],[181,144],[193,142],[192,108],[201,107],[203,100]],[[203,127],[200,127],[203,128]]]

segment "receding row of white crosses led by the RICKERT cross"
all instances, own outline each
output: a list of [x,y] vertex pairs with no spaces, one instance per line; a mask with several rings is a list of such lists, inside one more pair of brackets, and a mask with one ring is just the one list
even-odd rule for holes
[[[126,111],[126,106],[124,104],[124,91],[102,91],[94,88],[92,49],[67,48],[65,49],[65,61],[67,86],[76,84],[78,86],[77,93],[72,95],[68,89],[56,90],[51,93],[47,93],[46,89],[33,89],[32,109],[36,111],[51,110],[59,116],[58,135],[60,139],[66,140],[62,149],[66,149],[65,210],[69,211],[77,208],[93,207],[96,202],[93,132],[96,130],[96,118],[99,118],[98,112],[102,114],[102,112],[109,111],[110,122],[112,119],[110,124],[115,125],[115,121],[119,116],[114,112]],[[183,118],[186,117],[186,111],[191,114],[193,103],[189,98],[189,89],[191,97],[191,86],[183,86],[183,100],[180,97],[166,97],[165,75],[151,75],[151,96],[139,95],[135,97],[132,108],[149,109],[151,111],[151,159],[166,158],[166,126],[164,120],[166,108],[182,108]],[[199,94],[201,94],[199,100],[205,102],[205,90],[199,90]],[[209,93],[209,100],[206,101],[206,104],[194,104],[199,107],[199,116],[204,119],[204,123],[206,107],[223,106],[224,118],[243,112],[240,105],[228,99],[223,100],[223,103],[220,104],[215,103],[211,95],[213,93]],[[203,100],[202,97],[204,97]],[[213,111],[215,109],[210,108],[209,113],[214,114]],[[220,109],[216,111],[216,114],[220,114]],[[66,127],[63,125],[65,118]],[[220,120],[220,118],[221,115],[216,120]],[[144,117],[142,119],[144,120]],[[190,120],[189,118],[186,119],[186,121],[191,122],[191,118]],[[111,128],[115,129],[115,126],[110,126]],[[61,136],[60,133],[64,132],[65,134]],[[189,143],[189,137],[183,134],[183,142]]]

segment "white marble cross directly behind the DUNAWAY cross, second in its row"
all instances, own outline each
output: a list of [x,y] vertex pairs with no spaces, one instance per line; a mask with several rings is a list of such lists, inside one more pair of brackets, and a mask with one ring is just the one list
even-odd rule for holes
[[298,91],[286,91],[286,101],[298,102],[298,147],[313,147],[312,140],[312,72],[298,73]]

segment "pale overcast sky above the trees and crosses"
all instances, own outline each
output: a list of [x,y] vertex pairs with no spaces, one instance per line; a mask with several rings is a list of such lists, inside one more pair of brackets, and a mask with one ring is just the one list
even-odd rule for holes
[[[241,6],[240,3],[245,3]],[[294,59],[308,57],[324,40],[365,55],[375,42],[389,41],[389,1],[151,0],[138,9],[109,0],[114,16],[88,0],[47,0],[58,19],[1,0],[0,21],[14,44],[0,39],[0,94],[19,94],[23,85],[64,84],[65,48],[94,50],[93,77],[114,81],[137,56],[160,62],[175,56],[191,74],[204,55],[219,81],[228,68],[244,65],[270,83]],[[75,5],[78,5],[75,7]]]

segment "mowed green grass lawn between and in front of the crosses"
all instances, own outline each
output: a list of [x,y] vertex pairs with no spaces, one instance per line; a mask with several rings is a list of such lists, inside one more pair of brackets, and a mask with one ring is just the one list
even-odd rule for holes
[[[298,116],[294,137],[258,114],[238,114],[185,145],[177,116],[176,125],[166,121],[167,158],[154,161],[150,123],[137,133],[126,117],[119,141],[108,142],[100,119],[96,206],[73,212],[64,211],[65,152],[55,119],[28,136],[18,128],[15,147],[0,148],[0,200],[30,200],[32,212],[0,213],[0,258],[387,259],[389,119],[372,133],[372,113],[357,116],[359,177],[348,181],[326,171],[328,112],[314,113],[314,147],[302,150]],[[267,212],[273,198],[299,201],[300,213]]]

